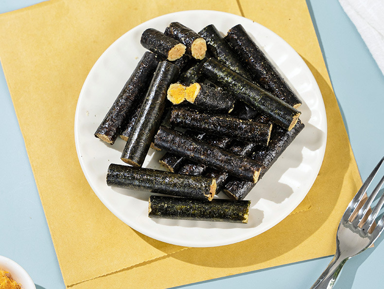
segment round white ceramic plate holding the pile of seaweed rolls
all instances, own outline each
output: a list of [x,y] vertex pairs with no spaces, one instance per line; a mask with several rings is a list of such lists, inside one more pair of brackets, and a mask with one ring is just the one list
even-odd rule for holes
[[[124,164],[120,156],[125,142],[119,138],[111,146],[96,139],[93,133],[146,51],[140,45],[141,33],[147,28],[164,31],[173,21],[195,31],[214,24],[223,33],[236,24],[242,24],[278,65],[303,101],[300,119],[305,128],[246,197],[251,200],[248,224],[150,219],[150,193],[106,185],[108,165]],[[92,67],[81,90],[75,116],[79,161],[90,186],[104,205],[142,234],[192,247],[243,241],[261,234],[288,216],[314,183],[323,161],[326,138],[327,121],[320,90],[297,52],[262,25],[241,16],[216,11],[184,11],[159,16],[126,32],[105,50]],[[161,156],[162,153],[150,150],[143,166],[162,169],[158,164]],[[225,197],[224,193],[219,196]]]

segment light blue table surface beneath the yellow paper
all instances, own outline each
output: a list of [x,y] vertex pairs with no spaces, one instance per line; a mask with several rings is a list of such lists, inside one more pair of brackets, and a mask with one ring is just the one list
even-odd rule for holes
[[[0,13],[37,2],[40,1],[0,0]],[[307,3],[360,174],[365,179],[384,156],[384,76],[337,0]],[[65,288],[2,69],[0,124],[0,255],[19,263],[37,289]],[[382,239],[376,242],[375,249],[347,262],[334,288],[384,288]],[[323,257],[178,288],[306,289],[331,259]]]

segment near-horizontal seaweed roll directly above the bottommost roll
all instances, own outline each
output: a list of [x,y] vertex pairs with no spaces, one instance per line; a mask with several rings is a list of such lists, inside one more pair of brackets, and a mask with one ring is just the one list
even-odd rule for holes
[[213,178],[187,176],[114,163],[108,167],[106,183],[111,187],[208,201],[216,192],[216,180]]

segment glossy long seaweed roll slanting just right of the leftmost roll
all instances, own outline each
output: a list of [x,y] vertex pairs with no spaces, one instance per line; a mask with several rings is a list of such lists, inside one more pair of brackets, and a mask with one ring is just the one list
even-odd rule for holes
[[122,151],[122,161],[134,166],[143,164],[161,123],[168,86],[178,73],[177,66],[170,62],[162,61],[157,65],[135,125]]

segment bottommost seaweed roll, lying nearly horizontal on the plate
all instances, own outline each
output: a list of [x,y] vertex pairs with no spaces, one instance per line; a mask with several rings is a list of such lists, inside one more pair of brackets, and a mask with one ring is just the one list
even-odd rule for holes
[[149,196],[148,217],[248,223],[250,201],[213,199],[208,202],[190,198]]

